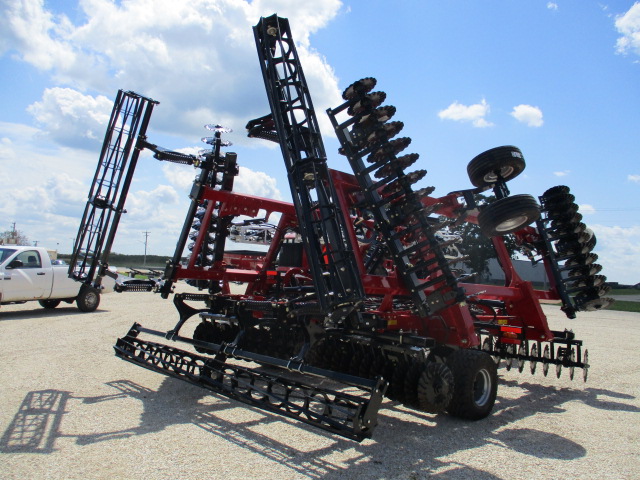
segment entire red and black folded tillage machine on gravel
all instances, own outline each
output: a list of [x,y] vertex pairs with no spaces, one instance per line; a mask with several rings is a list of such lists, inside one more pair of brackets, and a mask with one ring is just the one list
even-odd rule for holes
[[[396,109],[373,91],[373,78],[354,82],[344,103],[327,111],[353,173],[332,170],[288,21],[262,18],[254,35],[271,112],[247,130],[280,145],[293,202],[233,191],[237,155],[222,151],[229,145],[224,127],[207,126],[213,136],[203,141],[211,150],[199,156],[149,143],[157,102],[119,92],[76,241],[74,263],[91,266],[79,280],[99,288],[107,272],[140,150],[191,165],[198,176],[163,279],[132,288],[173,296],[178,321],[169,331],[134,323],[117,340],[116,355],[356,440],[371,436],[383,396],[425,412],[486,417],[500,360],[520,371],[529,362],[532,373],[541,364],[545,375],[552,365],[558,376],[566,367],[572,379],[582,368],[586,380],[582,341],[550,330],[540,306],[559,301],[574,318],[610,303],[591,253],[595,237],[568,188],[547,190],[540,204],[510,195],[507,182],[525,161],[518,148],[504,146],[471,160],[473,188],[442,197],[432,196],[433,187],[414,190],[426,172],[405,172],[418,155],[401,154],[411,140],[394,138],[403,125],[390,121]],[[495,200],[480,204],[487,191]],[[465,239],[451,232],[465,222],[491,238],[504,285],[468,283],[458,273]],[[518,276],[505,235],[544,264],[548,290]],[[227,240],[268,250],[231,254]],[[199,293],[174,293],[179,280]],[[184,334],[191,319],[193,334]]]

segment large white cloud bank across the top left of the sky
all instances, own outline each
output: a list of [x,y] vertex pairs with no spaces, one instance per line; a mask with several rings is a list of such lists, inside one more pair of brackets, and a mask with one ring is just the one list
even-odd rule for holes
[[[112,98],[119,88],[154,98],[153,128],[199,132],[205,123],[243,127],[268,112],[252,26],[261,15],[288,17],[317,111],[340,102],[337,79],[310,46],[341,7],[339,0],[84,0],[73,24],[42,0],[0,6],[0,53],[49,72],[78,92]],[[80,95],[78,93],[78,95]],[[99,97],[96,97],[99,98]],[[320,117],[323,117],[320,115]],[[325,135],[332,129],[321,125]]]

